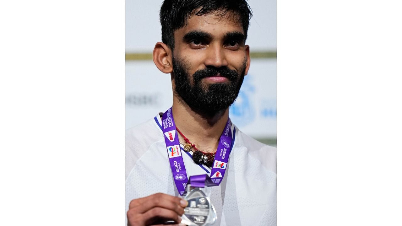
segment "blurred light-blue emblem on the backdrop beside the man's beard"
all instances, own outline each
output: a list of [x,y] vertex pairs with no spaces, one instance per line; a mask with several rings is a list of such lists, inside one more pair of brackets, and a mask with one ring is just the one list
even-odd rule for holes
[[255,86],[251,79],[251,76],[244,77],[239,96],[229,109],[230,119],[240,127],[252,123],[256,117],[255,106],[252,103],[255,100]]

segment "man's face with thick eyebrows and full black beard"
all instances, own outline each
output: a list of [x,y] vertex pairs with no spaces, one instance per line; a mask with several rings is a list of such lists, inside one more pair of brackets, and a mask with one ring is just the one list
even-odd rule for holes
[[192,109],[216,113],[237,98],[248,71],[249,50],[233,14],[193,15],[174,32],[176,94]]

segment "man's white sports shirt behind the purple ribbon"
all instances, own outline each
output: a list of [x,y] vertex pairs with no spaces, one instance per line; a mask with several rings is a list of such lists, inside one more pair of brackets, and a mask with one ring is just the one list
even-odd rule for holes
[[[132,199],[158,192],[179,196],[160,125],[157,115],[126,131],[126,212]],[[217,212],[215,225],[275,226],[276,148],[250,138],[232,124],[233,131],[224,179],[219,186],[205,189]],[[187,178],[210,175],[211,168],[195,164],[189,152],[182,151],[182,156]]]

